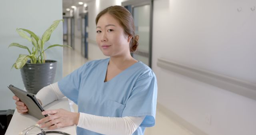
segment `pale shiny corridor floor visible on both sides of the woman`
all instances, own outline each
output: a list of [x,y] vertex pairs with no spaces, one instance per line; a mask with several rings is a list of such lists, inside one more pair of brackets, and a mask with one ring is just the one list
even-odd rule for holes
[[[80,52],[70,48],[63,48],[63,76],[68,75],[78,67],[85,64],[88,60],[83,58]],[[71,104],[74,111],[77,112],[77,105]],[[164,115],[160,110],[156,111],[156,125],[146,128],[145,135],[193,135],[185,128],[175,123]]]

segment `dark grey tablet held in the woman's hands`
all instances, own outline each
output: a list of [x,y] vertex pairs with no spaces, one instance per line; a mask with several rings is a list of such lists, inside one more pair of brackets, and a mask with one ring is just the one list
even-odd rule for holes
[[48,116],[42,115],[42,111],[44,111],[44,109],[32,93],[28,93],[22,89],[14,87],[13,85],[9,85],[8,88],[12,91],[12,93],[14,93],[14,95],[20,98],[20,101],[25,103],[25,105],[28,107],[28,114],[38,119]]

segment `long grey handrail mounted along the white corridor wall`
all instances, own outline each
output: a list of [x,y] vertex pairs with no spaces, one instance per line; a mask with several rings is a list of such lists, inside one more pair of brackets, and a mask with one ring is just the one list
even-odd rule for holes
[[157,66],[256,100],[256,84],[158,58]]

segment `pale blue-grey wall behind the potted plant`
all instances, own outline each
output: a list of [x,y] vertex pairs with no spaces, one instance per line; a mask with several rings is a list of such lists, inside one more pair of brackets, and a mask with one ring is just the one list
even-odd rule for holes
[[[32,46],[16,33],[16,28],[26,28],[42,36],[54,20],[62,19],[62,0],[1,0],[0,4],[0,110],[6,110],[15,109],[13,94],[7,86],[13,84],[24,88],[20,70],[10,68],[19,54],[27,54],[22,48],[8,48],[8,45],[17,42]],[[52,33],[45,46],[52,44],[62,44],[62,23]],[[47,59],[58,61],[55,81],[62,78],[62,52],[60,47],[46,51]]]

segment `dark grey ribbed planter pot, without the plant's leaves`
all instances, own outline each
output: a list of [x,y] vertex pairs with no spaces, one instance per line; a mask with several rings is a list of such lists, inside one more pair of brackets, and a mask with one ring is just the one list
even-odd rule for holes
[[57,61],[46,60],[45,64],[30,64],[28,61],[20,69],[22,80],[26,90],[36,94],[43,87],[54,81]]

